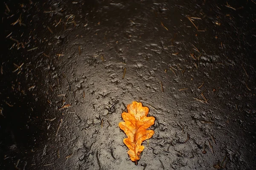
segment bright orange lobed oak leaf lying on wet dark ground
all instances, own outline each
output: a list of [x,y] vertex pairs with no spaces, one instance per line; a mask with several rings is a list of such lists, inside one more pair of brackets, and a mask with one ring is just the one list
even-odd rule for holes
[[148,107],[143,107],[140,102],[132,102],[127,106],[127,111],[122,113],[122,118],[125,122],[119,122],[119,127],[122,129],[127,138],[124,143],[129,148],[128,155],[131,161],[140,159],[140,153],[144,150],[141,145],[146,139],[150,139],[154,135],[154,130],[147,130],[148,127],[154,125],[155,118],[148,115]]

